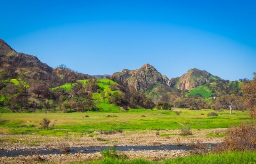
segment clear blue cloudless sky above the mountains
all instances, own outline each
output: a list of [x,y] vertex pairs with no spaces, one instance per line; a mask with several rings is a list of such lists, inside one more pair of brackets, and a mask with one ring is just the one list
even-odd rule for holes
[[153,65],[223,79],[256,71],[255,0],[1,0],[0,38],[55,67],[112,74]]

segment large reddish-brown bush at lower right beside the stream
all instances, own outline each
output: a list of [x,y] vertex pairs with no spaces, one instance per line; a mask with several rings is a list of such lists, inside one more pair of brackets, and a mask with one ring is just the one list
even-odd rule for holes
[[217,152],[230,150],[256,150],[256,124],[242,122],[238,127],[228,129],[224,144],[217,145]]

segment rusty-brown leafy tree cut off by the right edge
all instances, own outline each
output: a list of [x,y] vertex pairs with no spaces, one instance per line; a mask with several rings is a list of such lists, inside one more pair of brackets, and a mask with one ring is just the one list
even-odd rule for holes
[[256,119],[256,72],[254,72],[254,79],[245,82],[242,87],[245,98],[245,105],[249,107],[249,115],[251,118]]

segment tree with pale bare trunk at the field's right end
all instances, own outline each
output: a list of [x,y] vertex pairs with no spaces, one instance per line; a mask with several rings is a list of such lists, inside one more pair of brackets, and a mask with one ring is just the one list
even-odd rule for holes
[[232,109],[237,105],[237,96],[234,95],[223,95],[220,97],[220,104],[223,108],[229,109],[232,114]]

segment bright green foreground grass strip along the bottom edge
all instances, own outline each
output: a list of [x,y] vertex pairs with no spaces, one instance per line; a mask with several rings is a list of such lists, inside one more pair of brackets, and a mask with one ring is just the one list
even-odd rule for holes
[[[221,154],[188,156],[165,159],[164,161],[148,161],[146,159],[118,159],[111,156],[102,160],[81,162],[79,164],[255,164],[256,151],[230,151]],[[78,163],[73,163],[78,164]]]

